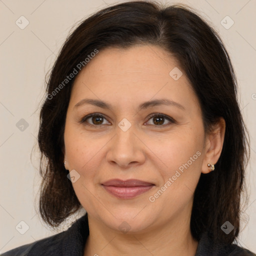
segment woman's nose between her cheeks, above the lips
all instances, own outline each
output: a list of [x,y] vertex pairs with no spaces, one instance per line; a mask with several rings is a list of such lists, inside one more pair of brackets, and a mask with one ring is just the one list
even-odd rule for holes
[[[132,126],[131,126],[132,127]],[[109,141],[106,160],[122,168],[140,165],[145,161],[145,145],[133,128],[126,131],[116,127],[116,134]]]

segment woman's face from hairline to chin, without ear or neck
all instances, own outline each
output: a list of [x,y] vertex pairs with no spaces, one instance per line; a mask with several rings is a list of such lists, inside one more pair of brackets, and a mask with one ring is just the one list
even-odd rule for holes
[[[189,222],[205,140],[198,100],[181,71],[150,45],[99,51],[78,74],[65,166],[90,218],[130,232]],[[121,182],[129,179],[138,181]]]

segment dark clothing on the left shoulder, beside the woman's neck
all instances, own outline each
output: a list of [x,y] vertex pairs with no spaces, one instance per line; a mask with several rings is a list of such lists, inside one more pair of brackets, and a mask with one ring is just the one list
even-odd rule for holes
[[77,219],[65,231],[8,250],[0,256],[80,255],[89,234],[86,215]]

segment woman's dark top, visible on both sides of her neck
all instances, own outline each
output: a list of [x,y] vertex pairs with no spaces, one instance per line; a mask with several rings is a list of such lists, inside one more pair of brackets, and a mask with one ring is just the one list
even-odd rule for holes
[[[66,231],[25,244],[1,254],[1,256],[83,256],[89,235],[87,213],[78,218]],[[96,253],[96,252],[95,252]],[[98,252],[100,255],[100,251]],[[256,254],[236,244],[214,245],[207,235],[201,236],[195,256],[255,256]]]

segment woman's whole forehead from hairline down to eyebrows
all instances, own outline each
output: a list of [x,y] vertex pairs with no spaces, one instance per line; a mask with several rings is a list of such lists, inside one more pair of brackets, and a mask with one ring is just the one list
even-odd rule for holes
[[[173,79],[176,78],[173,72],[180,77]],[[162,96],[197,103],[178,61],[155,45],[99,50],[77,75],[70,101],[78,101],[87,95],[107,97],[119,103]]]

